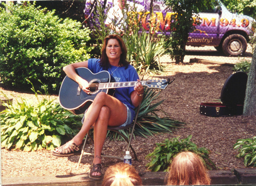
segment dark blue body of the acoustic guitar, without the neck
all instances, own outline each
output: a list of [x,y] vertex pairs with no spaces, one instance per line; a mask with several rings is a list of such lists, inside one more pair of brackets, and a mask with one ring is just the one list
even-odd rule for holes
[[[101,71],[93,74],[88,68],[76,68],[77,74],[90,83],[110,82],[111,77],[108,71]],[[69,110],[73,114],[82,114],[93,103],[98,93],[108,93],[108,89],[90,89],[90,94],[86,94],[80,89],[77,82],[68,76],[62,81],[59,92],[59,102],[64,109]]]

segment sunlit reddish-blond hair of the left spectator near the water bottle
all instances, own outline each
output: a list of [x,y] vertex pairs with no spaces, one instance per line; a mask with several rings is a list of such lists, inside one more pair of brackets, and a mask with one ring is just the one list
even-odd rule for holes
[[132,165],[117,163],[105,172],[102,186],[142,186],[142,181]]

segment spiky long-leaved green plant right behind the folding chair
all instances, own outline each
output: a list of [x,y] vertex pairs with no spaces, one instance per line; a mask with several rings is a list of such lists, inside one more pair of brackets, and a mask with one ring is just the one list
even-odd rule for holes
[[[172,120],[170,118],[159,118],[157,111],[158,106],[160,106],[164,100],[159,101],[158,95],[160,92],[156,92],[153,89],[145,89],[144,98],[140,105],[140,112],[138,114],[137,123],[134,128],[134,136],[139,135],[147,137],[149,135],[154,136],[158,133],[171,133],[176,127],[184,125],[184,123],[177,120]],[[135,111],[137,112],[137,110]],[[163,112],[163,111],[162,111]],[[132,129],[129,130],[119,130],[126,137]],[[120,135],[117,133],[109,132],[109,138],[118,140]]]

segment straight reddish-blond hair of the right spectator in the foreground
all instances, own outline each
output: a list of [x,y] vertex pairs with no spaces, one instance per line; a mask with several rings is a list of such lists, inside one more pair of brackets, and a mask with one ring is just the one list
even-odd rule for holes
[[199,156],[181,152],[172,160],[167,185],[210,185],[210,179]]

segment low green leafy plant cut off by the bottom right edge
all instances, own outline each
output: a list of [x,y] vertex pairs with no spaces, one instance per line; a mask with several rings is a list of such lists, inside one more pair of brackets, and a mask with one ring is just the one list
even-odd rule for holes
[[244,157],[245,166],[256,167],[256,136],[237,140],[233,149],[239,151],[239,154],[236,157]]

